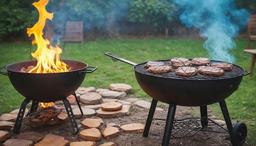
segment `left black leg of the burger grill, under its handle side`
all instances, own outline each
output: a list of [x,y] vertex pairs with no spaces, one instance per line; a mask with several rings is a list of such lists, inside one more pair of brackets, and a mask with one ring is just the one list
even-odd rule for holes
[[155,113],[155,107],[156,106],[157,106],[157,100],[155,100],[153,98],[153,100],[151,102],[150,109],[149,109],[149,113],[148,113],[148,119],[146,121],[146,125],[145,125],[144,131],[143,131],[143,136],[144,137],[148,137],[149,128],[150,128],[151,122],[153,120],[153,116],[154,116],[154,113]]

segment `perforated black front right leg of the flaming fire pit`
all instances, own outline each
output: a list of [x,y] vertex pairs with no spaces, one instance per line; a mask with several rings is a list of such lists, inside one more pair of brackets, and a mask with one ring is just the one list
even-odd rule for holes
[[71,126],[73,128],[74,134],[76,134],[79,131],[79,128],[77,127],[76,119],[74,117],[72,108],[70,106],[70,102],[67,100],[66,97],[62,98],[62,101],[63,101],[63,103],[65,105],[65,108],[66,108],[66,111],[67,111],[67,115],[68,115],[68,118],[70,119],[70,124],[71,124]]

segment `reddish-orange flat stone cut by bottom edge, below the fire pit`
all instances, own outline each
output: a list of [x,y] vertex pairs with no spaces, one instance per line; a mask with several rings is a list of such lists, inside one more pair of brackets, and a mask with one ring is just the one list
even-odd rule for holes
[[59,137],[49,137],[49,138],[44,138],[42,141],[38,142],[34,146],[68,146],[68,145],[69,145],[68,140],[60,139]]

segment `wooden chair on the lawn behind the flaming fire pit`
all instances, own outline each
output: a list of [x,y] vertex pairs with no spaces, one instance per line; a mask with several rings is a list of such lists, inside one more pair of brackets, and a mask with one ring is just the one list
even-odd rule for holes
[[83,49],[83,21],[67,21],[63,50],[66,42],[80,42]]

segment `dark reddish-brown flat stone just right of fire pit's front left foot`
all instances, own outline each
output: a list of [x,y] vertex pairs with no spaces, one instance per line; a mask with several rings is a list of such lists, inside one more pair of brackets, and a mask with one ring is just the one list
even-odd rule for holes
[[44,138],[44,135],[36,132],[24,132],[15,136],[16,139],[27,139],[33,142],[39,142]]

